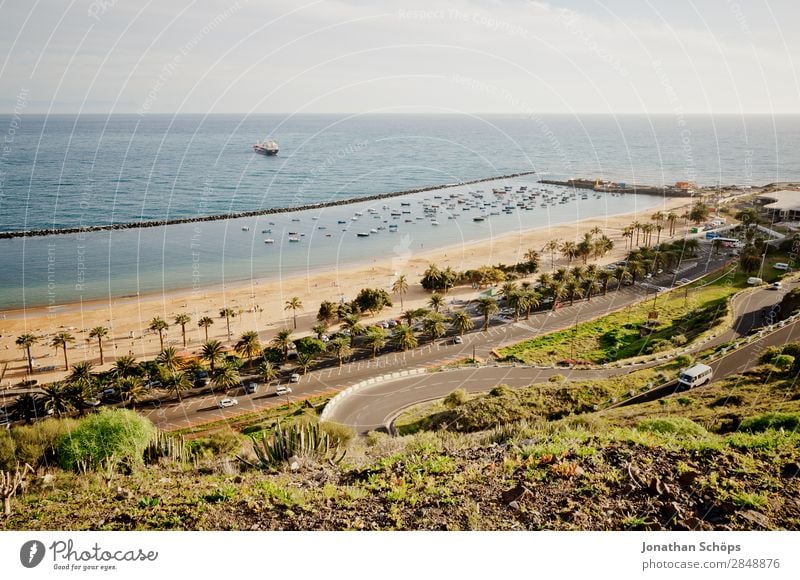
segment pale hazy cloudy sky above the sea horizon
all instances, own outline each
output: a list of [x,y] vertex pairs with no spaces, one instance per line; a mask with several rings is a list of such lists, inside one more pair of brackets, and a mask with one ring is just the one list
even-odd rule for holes
[[796,0],[0,0],[2,113],[791,114]]

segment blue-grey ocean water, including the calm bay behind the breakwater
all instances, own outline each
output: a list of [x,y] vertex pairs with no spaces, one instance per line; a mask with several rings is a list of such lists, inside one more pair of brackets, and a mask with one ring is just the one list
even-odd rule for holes
[[[650,185],[800,179],[796,116],[32,115],[0,116],[0,131],[0,231],[291,208],[524,171]],[[276,157],[252,151],[266,137],[278,141]],[[507,184],[534,188],[536,176],[439,191],[468,195]],[[369,232],[385,226],[389,216],[365,211],[387,214],[399,209],[401,198],[241,220],[0,240],[0,308],[334,270],[408,248],[474,241],[659,201],[590,196],[501,212],[482,223],[466,215],[446,219],[443,210],[439,225],[430,226],[430,220],[416,220],[426,198],[430,192],[413,197],[412,223],[398,220],[396,232],[379,230],[368,240],[356,236],[360,225],[371,218]],[[357,211],[365,215],[354,221]],[[289,232],[297,242],[288,242]]]

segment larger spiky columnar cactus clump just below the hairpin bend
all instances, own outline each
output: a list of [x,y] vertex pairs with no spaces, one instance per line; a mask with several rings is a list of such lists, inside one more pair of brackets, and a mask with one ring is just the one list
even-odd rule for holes
[[258,458],[254,466],[266,469],[287,462],[292,457],[339,463],[346,454],[344,450],[339,453],[339,447],[339,443],[320,429],[317,423],[296,423],[288,427],[278,423],[271,437],[253,437],[253,451]]

